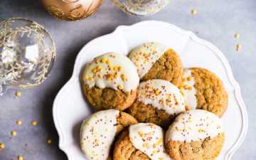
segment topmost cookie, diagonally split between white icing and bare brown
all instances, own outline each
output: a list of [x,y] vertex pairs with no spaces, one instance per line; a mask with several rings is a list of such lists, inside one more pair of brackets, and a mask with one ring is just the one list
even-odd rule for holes
[[181,58],[171,48],[159,43],[144,43],[132,50],[129,58],[137,66],[142,81],[162,79],[177,86],[182,82]]

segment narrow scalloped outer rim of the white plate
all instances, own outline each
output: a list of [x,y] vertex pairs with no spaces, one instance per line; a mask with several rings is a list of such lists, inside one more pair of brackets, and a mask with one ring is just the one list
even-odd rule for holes
[[57,114],[58,102],[59,102],[59,100],[61,100],[60,97],[63,95],[63,92],[65,92],[65,90],[68,90],[68,87],[70,87],[70,85],[72,85],[72,83],[76,79],[75,73],[76,73],[76,70],[78,70],[79,60],[82,57],[83,51],[86,49],[87,46],[90,46],[91,43],[93,43],[94,41],[97,41],[100,38],[105,38],[112,34],[116,34],[117,32],[122,31],[122,30],[132,29],[132,28],[135,28],[138,26],[143,27],[143,26],[150,26],[150,25],[156,25],[156,24],[161,27],[163,27],[163,26],[169,27],[178,32],[187,34],[187,36],[189,38],[191,38],[193,41],[196,41],[197,43],[201,43],[201,45],[206,46],[210,50],[213,50],[213,53],[215,53],[215,55],[218,56],[221,63],[223,63],[223,66],[225,67],[225,72],[226,72],[226,75],[228,75],[228,80],[230,81],[230,84],[233,85],[233,87],[234,87],[235,100],[238,102],[238,106],[239,106],[240,112],[242,114],[242,130],[241,130],[240,135],[239,135],[238,139],[236,140],[235,144],[233,144],[233,146],[225,154],[225,160],[230,160],[232,158],[233,154],[235,154],[235,151],[237,151],[238,148],[241,146],[242,142],[244,142],[246,134],[247,134],[247,129],[248,129],[247,108],[245,106],[245,102],[242,99],[240,85],[235,80],[235,78],[233,76],[232,69],[230,67],[230,64],[228,63],[228,59],[225,58],[225,55],[216,46],[214,46],[213,43],[210,43],[209,41],[206,41],[202,38],[199,38],[192,31],[184,30],[184,29],[179,28],[178,26],[175,26],[174,24],[171,24],[168,22],[149,20],[149,21],[140,21],[140,22],[134,23],[130,26],[124,26],[124,25],[117,26],[117,28],[112,33],[108,33],[106,35],[99,36],[97,38],[92,39],[91,41],[86,43],[85,46],[83,46],[81,48],[81,50],[79,51],[77,57],[75,58],[75,64],[74,64],[73,73],[72,73],[71,78],[65,83],[65,85],[63,85],[63,87],[61,87],[61,89],[59,90],[58,94],[55,97],[55,100],[53,101],[53,122],[55,124],[55,128],[56,128],[56,130],[58,132],[58,136],[59,136],[58,146],[68,156],[69,160],[71,160],[71,158],[70,158],[68,149],[65,149],[65,147],[62,146],[64,137],[63,137],[63,133],[60,129],[61,128],[60,124],[58,122],[58,114]]

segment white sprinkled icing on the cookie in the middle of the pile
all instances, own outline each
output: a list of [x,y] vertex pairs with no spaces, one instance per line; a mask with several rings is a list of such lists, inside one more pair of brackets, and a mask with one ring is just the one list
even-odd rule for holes
[[139,84],[139,102],[152,105],[168,114],[185,111],[185,100],[178,87],[167,80],[147,80]]

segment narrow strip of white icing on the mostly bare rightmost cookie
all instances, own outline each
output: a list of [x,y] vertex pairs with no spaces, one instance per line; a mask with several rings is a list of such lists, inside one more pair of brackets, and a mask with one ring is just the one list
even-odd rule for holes
[[197,100],[196,100],[196,87],[195,78],[191,74],[191,70],[184,70],[184,82],[183,93],[186,100],[186,105],[189,107],[189,110],[196,110]]

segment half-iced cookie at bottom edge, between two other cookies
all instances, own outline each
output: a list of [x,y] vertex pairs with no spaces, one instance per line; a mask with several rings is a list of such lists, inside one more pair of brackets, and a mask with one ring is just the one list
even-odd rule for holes
[[171,160],[164,149],[164,130],[139,123],[124,130],[114,144],[114,160]]

